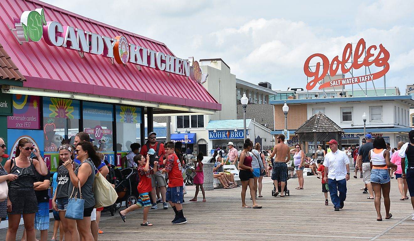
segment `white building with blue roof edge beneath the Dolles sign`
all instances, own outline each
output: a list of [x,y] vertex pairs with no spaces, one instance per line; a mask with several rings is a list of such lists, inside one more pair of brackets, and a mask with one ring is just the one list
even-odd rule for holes
[[[270,102],[274,105],[275,129],[279,132],[284,129],[282,112],[284,102],[285,100]],[[327,115],[344,129],[343,147],[361,143],[364,138],[362,118],[364,113],[366,114],[366,133],[383,136],[392,148],[397,147],[399,141],[408,141],[408,132],[412,130],[410,107],[414,107],[414,100],[411,95],[294,99],[286,100],[286,103],[289,106],[290,140],[295,138],[294,131],[318,112]],[[274,132],[276,133],[277,131]],[[295,140],[300,141],[297,138]],[[313,148],[313,143],[309,143],[307,149],[313,150]]]

